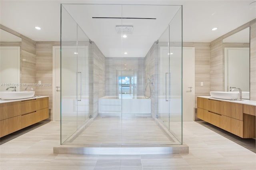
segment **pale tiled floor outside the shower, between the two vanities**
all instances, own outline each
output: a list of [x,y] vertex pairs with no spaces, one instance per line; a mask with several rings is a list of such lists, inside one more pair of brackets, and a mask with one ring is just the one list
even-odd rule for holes
[[53,154],[60,123],[50,122],[0,145],[1,170],[255,170],[256,154],[196,122],[183,123],[189,154]]

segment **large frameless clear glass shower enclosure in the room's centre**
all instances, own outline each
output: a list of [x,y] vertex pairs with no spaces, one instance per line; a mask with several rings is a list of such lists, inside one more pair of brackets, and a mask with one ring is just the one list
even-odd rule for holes
[[61,144],[182,144],[182,6],[61,5]]

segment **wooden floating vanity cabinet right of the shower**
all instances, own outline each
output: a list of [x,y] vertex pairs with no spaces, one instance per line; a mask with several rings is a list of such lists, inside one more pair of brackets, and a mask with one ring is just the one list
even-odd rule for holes
[[242,138],[255,138],[255,106],[197,98],[199,119]]

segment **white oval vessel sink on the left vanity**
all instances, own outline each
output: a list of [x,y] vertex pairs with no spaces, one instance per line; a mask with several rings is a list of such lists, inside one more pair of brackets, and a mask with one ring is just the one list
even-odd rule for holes
[[0,98],[3,100],[27,99],[35,95],[34,91],[1,91]]

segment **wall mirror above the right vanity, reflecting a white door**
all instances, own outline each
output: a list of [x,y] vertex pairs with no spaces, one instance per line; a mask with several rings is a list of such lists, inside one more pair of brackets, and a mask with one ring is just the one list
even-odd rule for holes
[[223,39],[225,91],[242,89],[250,97],[250,27]]

